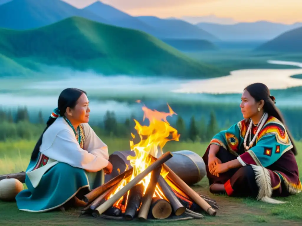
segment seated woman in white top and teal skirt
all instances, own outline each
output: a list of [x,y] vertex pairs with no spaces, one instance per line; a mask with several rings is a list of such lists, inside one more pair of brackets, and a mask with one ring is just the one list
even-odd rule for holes
[[27,190],[16,196],[18,208],[46,212],[83,206],[83,195],[110,174],[108,148],[88,125],[89,101],[80,89],[62,91],[26,169]]

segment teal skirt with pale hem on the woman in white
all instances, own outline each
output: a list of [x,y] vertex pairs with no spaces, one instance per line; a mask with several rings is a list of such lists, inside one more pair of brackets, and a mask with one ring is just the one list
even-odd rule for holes
[[50,168],[34,188],[26,176],[26,190],[16,196],[19,210],[46,212],[56,209],[82,190],[92,190],[104,183],[104,171],[87,172],[59,162]]

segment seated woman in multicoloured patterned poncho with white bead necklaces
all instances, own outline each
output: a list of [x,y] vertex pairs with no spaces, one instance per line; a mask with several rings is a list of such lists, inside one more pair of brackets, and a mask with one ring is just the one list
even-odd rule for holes
[[270,203],[300,193],[297,149],[268,87],[247,86],[240,108],[244,120],[216,134],[203,156],[210,192]]

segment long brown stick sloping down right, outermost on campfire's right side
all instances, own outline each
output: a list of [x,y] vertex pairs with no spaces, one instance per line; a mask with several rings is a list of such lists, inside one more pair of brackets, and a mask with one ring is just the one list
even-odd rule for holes
[[188,186],[180,177],[177,176],[167,165],[163,164],[163,167],[169,171],[167,177],[172,180],[177,186],[182,189],[194,202],[197,203],[205,212],[210,216],[216,215],[216,210],[213,209],[203,198],[199,196],[191,187]]

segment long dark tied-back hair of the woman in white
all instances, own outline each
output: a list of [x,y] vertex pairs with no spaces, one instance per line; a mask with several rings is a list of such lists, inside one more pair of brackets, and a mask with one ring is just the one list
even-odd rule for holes
[[[74,108],[77,104],[77,101],[79,97],[83,94],[87,94],[85,91],[81,89],[76,88],[67,88],[64,89],[59,96],[58,99],[58,109],[59,109],[59,115],[64,115],[66,113],[66,108]],[[37,158],[37,155],[40,151],[40,146],[42,144],[42,137],[44,132],[47,130],[48,127],[50,127],[53,122],[56,121],[56,118],[49,117],[46,123],[46,128],[44,129],[43,133],[41,134],[36,146],[34,147],[34,151],[31,155],[31,160],[35,160]]]

